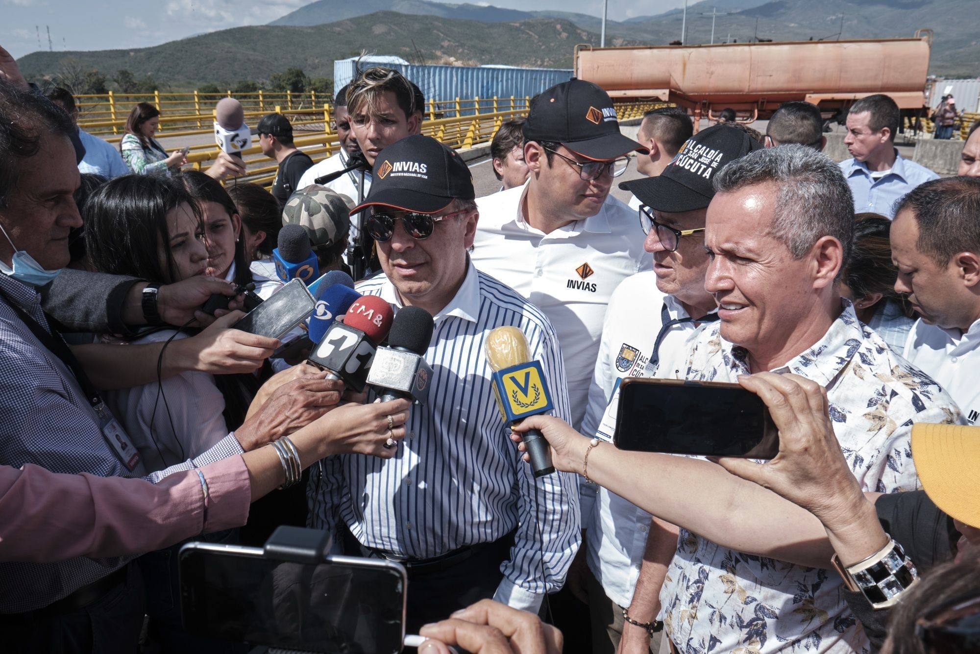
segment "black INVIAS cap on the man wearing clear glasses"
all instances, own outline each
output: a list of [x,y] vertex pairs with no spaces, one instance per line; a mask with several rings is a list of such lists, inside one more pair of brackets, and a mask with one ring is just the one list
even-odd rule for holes
[[619,133],[613,99],[591,81],[569,79],[544,91],[531,105],[524,138],[555,141],[588,159],[606,160],[647,148]]

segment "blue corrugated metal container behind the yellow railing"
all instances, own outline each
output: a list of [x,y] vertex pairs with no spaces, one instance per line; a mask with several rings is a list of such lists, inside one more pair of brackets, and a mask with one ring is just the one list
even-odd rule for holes
[[[334,88],[341,88],[354,78],[354,60],[335,61],[333,63]],[[472,100],[480,98],[480,113],[493,111],[492,103],[483,104],[484,99],[497,96],[501,100],[530,97],[540,93],[550,86],[566,81],[571,77],[570,69],[532,69],[532,68],[496,68],[470,66],[419,66],[416,64],[387,64],[416,82],[422,90],[425,100]],[[364,62],[361,68],[366,68]],[[500,105],[498,105],[500,106]],[[464,105],[461,115],[473,114],[471,106]],[[455,111],[444,113],[445,116],[455,116]]]

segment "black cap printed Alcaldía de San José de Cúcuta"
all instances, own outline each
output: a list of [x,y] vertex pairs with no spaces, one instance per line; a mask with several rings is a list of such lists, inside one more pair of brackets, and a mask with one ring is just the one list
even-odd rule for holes
[[673,160],[656,177],[641,177],[619,184],[651,209],[677,214],[711,204],[711,177],[762,144],[741,129],[715,125],[684,142]]

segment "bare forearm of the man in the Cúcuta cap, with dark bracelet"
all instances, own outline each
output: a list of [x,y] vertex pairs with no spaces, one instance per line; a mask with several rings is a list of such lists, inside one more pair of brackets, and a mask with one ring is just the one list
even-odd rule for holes
[[[643,552],[640,576],[636,579],[629,617],[640,623],[652,623],[661,611],[661,586],[677,551],[679,529],[658,518],[650,521],[647,547]],[[646,652],[650,649],[650,633],[623,621],[620,652]]]

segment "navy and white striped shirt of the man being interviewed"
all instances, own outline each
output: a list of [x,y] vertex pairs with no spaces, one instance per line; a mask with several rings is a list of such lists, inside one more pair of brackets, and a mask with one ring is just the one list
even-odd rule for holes
[[[401,307],[383,275],[359,284]],[[337,515],[364,545],[399,556],[432,558],[497,540],[517,527],[511,559],[495,599],[536,608],[562,587],[580,541],[574,475],[535,479],[520,460],[497,408],[483,350],[490,330],[518,327],[539,361],[555,414],[568,420],[568,394],[558,337],[534,305],[497,279],[468,266],[456,297],[435,316],[425,360],[433,375],[425,406],[414,406],[409,434],[394,458],[340,455],[325,460],[324,478],[310,481],[319,497],[311,521],[334,529]],[[540,506],[535,502],[540,502]],[[540,519],[540,523],[539,523]],[[546,579],[541,579],[544,554]]]

